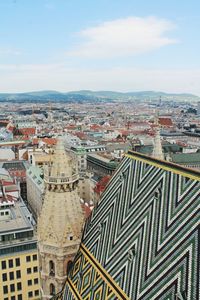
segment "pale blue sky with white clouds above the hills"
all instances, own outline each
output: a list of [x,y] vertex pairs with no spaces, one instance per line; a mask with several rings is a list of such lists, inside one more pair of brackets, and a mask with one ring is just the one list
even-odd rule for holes
[[0,92],[200,96],[199,0],[0,0]]

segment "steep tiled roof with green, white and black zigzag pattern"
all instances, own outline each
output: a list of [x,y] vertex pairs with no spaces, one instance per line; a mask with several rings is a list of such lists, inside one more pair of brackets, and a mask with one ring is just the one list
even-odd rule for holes
[[199,172],[130,151],[54,299],[198,299],[199,204]]

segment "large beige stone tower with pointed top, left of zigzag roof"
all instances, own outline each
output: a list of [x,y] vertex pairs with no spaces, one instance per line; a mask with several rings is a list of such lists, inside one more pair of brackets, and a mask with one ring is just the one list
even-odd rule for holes
[[81,241],[84,214],[78,171],[59,140],[44,172],[45,196],[38,220],[42,299],[59,292]]

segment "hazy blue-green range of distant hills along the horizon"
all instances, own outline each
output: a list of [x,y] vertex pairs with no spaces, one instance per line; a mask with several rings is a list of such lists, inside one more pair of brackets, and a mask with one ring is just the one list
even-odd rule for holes
[[115,92],[80,90],[61,93],[58,91],[35,91],[28,93],[0,93],[0,101],[20,102],[93,102],[93,101],[131,101],[131,100],[180,100],[193,101],[199,97],[192,94],[170,94],[159,91]]

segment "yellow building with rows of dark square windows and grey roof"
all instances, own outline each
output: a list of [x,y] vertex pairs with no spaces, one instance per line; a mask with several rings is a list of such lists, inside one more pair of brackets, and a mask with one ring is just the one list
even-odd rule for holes
[[37,239],[19,190],[0,188],[0,299],[40,299]]

